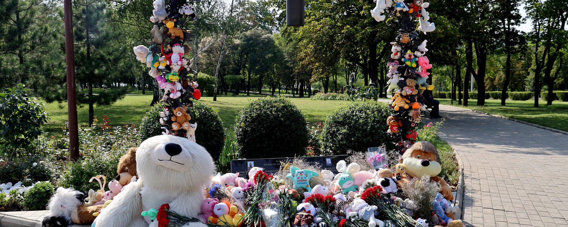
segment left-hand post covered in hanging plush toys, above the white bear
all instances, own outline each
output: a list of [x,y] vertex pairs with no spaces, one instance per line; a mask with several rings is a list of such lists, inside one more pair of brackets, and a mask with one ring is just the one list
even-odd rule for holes
[[197,123],[190,123],[187,110],[193,105],[194,98],[201,98],[201,92],[197,89],[197,82],[188,76],[195,73],[186,57],[192,51],[187,43],[194,35],[183,28],[186,22],[197,19],[195,8],[189,4],[191,1],[155,0],[150,17],[154,23],[150,31],[152,42],[148,42],[150,47],[134,47],[134,53],[137,60],[146,63],[146,67],[150,68],[148,74],[164,90],[161,101],[166,106],[160,112],[163,134],[187,137],[195,142]]

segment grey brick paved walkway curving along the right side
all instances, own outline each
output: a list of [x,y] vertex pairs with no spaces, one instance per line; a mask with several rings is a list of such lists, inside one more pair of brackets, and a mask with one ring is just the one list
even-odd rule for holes
[[440,136],[463,161],[468,226],[568,227],[568,135],[440,109],[447,120]]

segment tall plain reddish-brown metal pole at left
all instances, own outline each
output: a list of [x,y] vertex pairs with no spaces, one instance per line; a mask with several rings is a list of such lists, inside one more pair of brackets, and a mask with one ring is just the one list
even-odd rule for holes
[[64,1],[65,11],[65,63],[67,63],[67,112],[69,114],[69,156],[79,156],[77,126],[77,98],[75,93],[75,54],[73,48],[73,9],[71,0]]

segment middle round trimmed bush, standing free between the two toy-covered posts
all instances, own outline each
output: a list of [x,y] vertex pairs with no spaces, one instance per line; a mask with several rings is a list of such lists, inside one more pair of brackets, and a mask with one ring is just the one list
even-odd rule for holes
[[268,97],[250,102],[237,116],[235,129],[243,158],[306,154],[306,118],[289,98]]

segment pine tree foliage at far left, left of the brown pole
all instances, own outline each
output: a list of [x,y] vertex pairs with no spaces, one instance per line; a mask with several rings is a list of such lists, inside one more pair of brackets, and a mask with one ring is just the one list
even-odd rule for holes
[[37,93],[37,80],[52,76],[48,69],[58,64],[58,57],[51,46],[59,38],[53,9],[48,1],[0,1],[0,10],[5,12],[0,16],[0,85],[23,82]]

